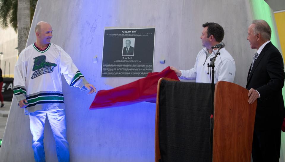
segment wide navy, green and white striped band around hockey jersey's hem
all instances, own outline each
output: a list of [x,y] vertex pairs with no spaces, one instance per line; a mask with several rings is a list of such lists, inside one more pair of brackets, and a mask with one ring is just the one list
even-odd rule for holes
[[64,103],[64,97],[61,93],[39,93],[27,97],[28,106],[35,106],[41,103]]

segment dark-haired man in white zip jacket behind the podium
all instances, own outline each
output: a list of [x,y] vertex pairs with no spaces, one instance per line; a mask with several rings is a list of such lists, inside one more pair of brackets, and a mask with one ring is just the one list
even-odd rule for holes
[[[190,70],[178,70],[175,67],[170,67],[176,75],[181,79],[196,80],[200,83],[211,83],[211,70],[208,70],[208,63],[218,51],[218,48],[211,47],[221,43],[224,39],[224,29],[221,25],[214,22],[206,22],[202,25],[202,46],[203,48],[197,55],[195,65]],[[235,61],[225,48],[219,51],[221,55],[215,61],[215,76],[214,83],[223,80],[233,82],[235,78]],[[210,74],[207,74],[207,73]]]

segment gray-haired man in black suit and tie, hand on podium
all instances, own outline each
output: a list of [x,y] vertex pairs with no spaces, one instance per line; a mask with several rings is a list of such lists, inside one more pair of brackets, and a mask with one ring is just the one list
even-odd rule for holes
[[248,27],[250,47],[257,49],[248,71],[248,103],[257,99],[252,141],[254,162],[279,162],[281,125],[285,116],[282,87],[283,59],[270,42],[271,28],[264,20],[253,20]]

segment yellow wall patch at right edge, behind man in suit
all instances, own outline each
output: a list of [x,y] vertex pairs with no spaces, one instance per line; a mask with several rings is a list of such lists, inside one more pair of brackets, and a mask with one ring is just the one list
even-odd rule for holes
[[285,58],[285,12],[275,13],[274,17],[276,20],[283,58]]

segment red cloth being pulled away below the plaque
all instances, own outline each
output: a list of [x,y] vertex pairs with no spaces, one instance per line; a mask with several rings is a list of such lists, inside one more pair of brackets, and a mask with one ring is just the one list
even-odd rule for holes
[[99,90],[92,102],[90,109],[125,106],[142,101],[156,99],[157,82],[166,77],[179,80],[170,67],[162,72],[148,73],[148,76],[126,85],[110,90]]

